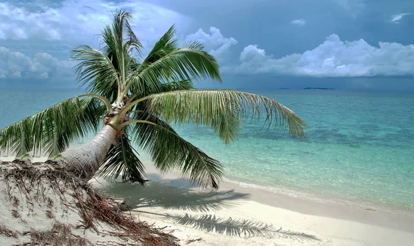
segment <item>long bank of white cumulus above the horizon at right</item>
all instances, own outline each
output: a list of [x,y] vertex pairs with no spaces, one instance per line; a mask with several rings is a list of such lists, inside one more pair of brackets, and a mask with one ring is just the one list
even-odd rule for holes
[[284,74],[316,77],[414,76],[414,45],[380,42],[372,46],[364,39],[341,41],[331,34],[313,50],[274,59],[257,45],[240,54],[241,63],[223,72],[239,74]]

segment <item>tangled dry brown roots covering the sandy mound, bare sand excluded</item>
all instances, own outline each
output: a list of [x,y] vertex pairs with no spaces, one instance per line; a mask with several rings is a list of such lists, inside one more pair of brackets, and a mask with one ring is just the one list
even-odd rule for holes
[[[81,221],[76,225],[66,225],[56,222],[47,231],[31,229],[29,232],[15,232],[12,229],[0,226],[0,234],[8,237],[30,234],[30,243],[23,245],[92,245],[87,238],[79,232],[90,230],[100,236],[117,238],[119,240],[101,241],[96,245],[178,245],[171,234],[162,232],[161,229],[148,225],[145,222],[136,221],[135,218],[120,211],[114,198],[103,196],[97,189],[89,185],[81,178],[77,178],[64,167],[49,161],[48,163],[28,163],[14,161],[14,163],[3,163],[2,180],[8,187],[8,195],[11,203],[16,208],[24,203],[15,196],[11,189],[18,187],[19,192],[28,205],[46,205],[46,217],[55,220],[54,214],[56,204],[66,207],[66,211],[75,211],[79,214]],[[51,198],[46,190],[52,189],[57,200]],[[15,209],[15,216],[20,216]],[[60,216],[60,215],[59,215]],[[105,225],[101,229],[100,225]]]

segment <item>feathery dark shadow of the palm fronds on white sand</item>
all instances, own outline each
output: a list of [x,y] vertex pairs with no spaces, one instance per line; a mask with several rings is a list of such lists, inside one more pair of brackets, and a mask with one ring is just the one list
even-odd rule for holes
[[[246,218],[222,218],[215,214],[157,214],[139,210],[145,207],[164,207],[192,212],[214,212],[233,207],[249,194],[235,192],[233,189],[221,192],[190,190],[194,187],[182,178],[165,180],[157,174],[148,174],[150,182],[145,187],[131,183],[108,183],[101,187],[107,194],[124,198],[130,209],[136,212],[153,214],[174,223],[193,227],[204,232],[215,232],[243,238],[266,237],[296,240],[300,243],[319,241],[316,236],[291,232],[282,227],[273,227],[260,221]],[[163,182],[163,183],[159,183]],[[187,188],[187,189],[185,189]]]

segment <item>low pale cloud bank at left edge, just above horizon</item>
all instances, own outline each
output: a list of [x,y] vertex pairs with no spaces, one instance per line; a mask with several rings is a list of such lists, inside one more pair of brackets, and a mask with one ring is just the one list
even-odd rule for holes
[[0,79],[54,79],[72,77],[74,61],[59,61],[48,53],[28,57],[0,46]]

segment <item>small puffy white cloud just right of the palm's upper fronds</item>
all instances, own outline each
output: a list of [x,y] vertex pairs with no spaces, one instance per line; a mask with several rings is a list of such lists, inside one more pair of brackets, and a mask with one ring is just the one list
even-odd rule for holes
[[197,32],[188,34],[184,41],[199,41],[210,54],[218,58],[224,58],[230,47],[237,44],[236,39],[223,37],[220,30],[215,27],[210,28],[210,34],[200,28]]

